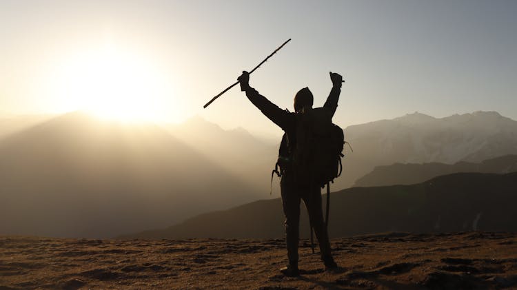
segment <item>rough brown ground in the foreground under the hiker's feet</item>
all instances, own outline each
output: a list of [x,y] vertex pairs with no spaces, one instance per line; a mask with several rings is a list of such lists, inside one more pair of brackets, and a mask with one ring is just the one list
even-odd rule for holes
[[0,237],[0,289],[517,288],[517,234],[390,233],[332,240],[324,271],[301,242],[283,277],[283,240],[75,240]]

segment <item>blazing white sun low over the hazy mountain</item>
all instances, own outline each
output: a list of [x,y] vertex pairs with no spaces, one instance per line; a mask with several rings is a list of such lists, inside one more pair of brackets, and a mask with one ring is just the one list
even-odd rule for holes
[[173,109],[168,107],[174,92],[167,74],[139,54],[112,46],[68,59],[61,65],[55,86],[70,110],[101,118],[163,121]]

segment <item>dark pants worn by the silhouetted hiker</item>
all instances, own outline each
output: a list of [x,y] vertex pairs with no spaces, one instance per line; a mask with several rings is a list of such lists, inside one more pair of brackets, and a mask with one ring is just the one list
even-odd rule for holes
[[310,223],[318,239],[321,257],[330,256],[330,242],[321,209],[321,189],[318,185],[296,182],[294,176],[284,174],[281,179],[283,213],[285,215],[285,240],[290,263],[298,262],[300,200],[303,200]]

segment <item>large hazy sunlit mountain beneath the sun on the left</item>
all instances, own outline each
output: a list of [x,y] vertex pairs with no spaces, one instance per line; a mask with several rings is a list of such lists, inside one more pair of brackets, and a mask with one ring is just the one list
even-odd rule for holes
[[263,197],[156,125],[74,112],[0,142],[0,233],[105,238]]

